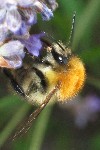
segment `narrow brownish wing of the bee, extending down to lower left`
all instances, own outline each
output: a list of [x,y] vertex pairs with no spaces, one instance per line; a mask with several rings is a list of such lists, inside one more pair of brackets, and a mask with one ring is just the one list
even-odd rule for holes
[[57,92],[58,88],[59,88],[59,84],[57,84],[54,87],[54,89],[49,93],[49,95],[46,97],[44,102],[28,117],[28,119],[25,121],[25,124],[21,126],[20,130],[18,130],[15,133],[15,135],[12,136],[11,138],[12,141],[14,141],[17,137],[20,137],[21,135],[23,135],[29,130],[33,120],[35,120],[38,117],[38,115],[41,113],[41,111],[46,107],[51,97]]

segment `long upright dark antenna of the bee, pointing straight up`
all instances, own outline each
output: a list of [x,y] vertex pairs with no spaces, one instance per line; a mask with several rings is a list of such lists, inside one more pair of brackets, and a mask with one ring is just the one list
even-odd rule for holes
[[75,19],[76,19],[76,11],[73,13],[71,32],[70,32],[69,41],[67,43],[66,48],[72,47],[73,35],[74,35],[74,30],[75,30]]

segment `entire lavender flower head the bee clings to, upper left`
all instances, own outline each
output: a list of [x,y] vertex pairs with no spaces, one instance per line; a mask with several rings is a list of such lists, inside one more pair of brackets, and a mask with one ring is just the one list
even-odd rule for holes
[[42,48],[40,38],[44,33],[29,33],[31,26],[37,22],[37,13],[46,21],[53,17],[51,9],[39,0],[0,0],[1,67],[20,68],[25,56],[24,47],[30,54],[39,56]]

